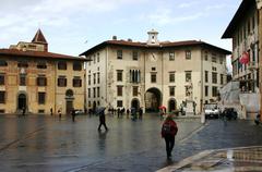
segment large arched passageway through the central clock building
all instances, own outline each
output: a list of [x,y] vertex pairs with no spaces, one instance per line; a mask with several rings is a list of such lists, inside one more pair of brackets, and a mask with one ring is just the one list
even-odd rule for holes
[[158,112],[162,106],[162,93],[157,88],[150,88],[145,93],[145,112]]

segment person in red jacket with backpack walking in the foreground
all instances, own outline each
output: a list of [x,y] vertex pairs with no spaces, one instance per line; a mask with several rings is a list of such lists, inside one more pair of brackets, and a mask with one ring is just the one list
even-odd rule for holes
[[162,125],[162,138],[166,142],[167,159],[171,158],[171,151],[175,146],[175,136],[177,135],[177,123],[172,120],[172,115],[169,114]]

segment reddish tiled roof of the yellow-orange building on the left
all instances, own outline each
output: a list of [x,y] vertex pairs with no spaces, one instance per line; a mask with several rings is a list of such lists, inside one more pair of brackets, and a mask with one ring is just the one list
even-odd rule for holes
[[90,61],[86,58],[71,57],[66,54],[52,53],[47,51],[22,51],[16,49],[0,49],[0,56],[14,57],[14,58],[41,58],[41,59],[63,59],[63,60],[78,60]]

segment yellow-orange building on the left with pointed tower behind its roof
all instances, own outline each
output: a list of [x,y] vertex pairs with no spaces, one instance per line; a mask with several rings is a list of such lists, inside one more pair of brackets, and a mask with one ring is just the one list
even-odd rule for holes
[[85,58],[48,52],[40,29],[32,42],[0,49],[0,113],[84,110]]

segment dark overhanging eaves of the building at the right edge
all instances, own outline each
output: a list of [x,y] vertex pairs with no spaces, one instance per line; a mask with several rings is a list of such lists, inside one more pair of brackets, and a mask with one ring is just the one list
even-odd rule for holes
[[238,28],[239,23],[243,20],[250,9],[255,7],[255,0],[242,0],[240,7],[238,8],[237,12],[235,13],[231,22],[227,26],[225,33],[223,34],[222,38],[231,38],[233,33]]

